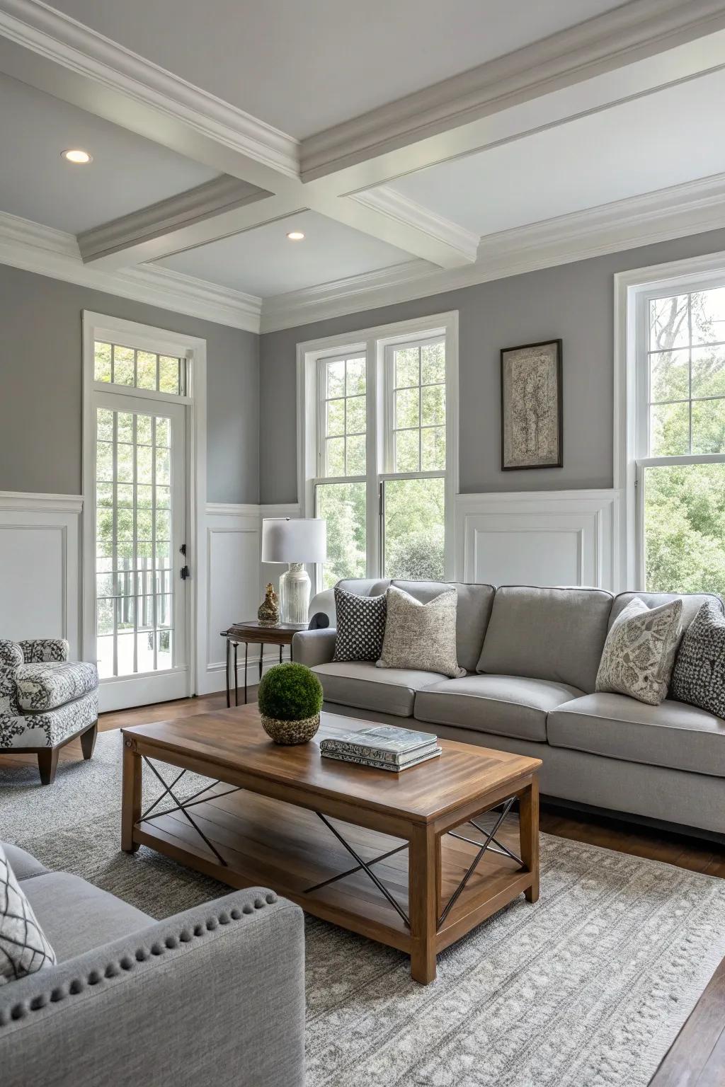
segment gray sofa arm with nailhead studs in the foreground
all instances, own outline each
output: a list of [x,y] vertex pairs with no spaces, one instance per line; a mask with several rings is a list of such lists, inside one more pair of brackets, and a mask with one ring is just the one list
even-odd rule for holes
[[302,1087],[302,911],[247,888],[3,986],[0,1070],[3,1087]]

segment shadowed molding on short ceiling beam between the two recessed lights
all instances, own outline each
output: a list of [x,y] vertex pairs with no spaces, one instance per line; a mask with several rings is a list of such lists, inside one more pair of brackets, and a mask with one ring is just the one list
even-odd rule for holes
[[139,211],[121,215],[78,235],[78,248],[85,262],[127,250],[139,242],[170,234],[192,223],[212,218],[225,211],[271,196],[265,189],[223,174],[192,189],[159,200]]

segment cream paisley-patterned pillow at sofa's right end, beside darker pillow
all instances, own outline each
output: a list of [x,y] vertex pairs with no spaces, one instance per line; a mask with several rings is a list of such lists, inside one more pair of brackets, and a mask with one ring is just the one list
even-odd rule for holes
[[682,616],[682,600],[648,608],[635,597],[607,635],[596,689],[659,705],[667,697]]

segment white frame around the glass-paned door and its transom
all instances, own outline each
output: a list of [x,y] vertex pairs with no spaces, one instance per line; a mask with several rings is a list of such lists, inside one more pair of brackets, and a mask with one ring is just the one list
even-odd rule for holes
[[[95,417],[92,393],[113,390],[123,395],[124,389],[108,382],[95,380],[95,348],[96,340],[121,343],[138,350],[153,351],[187,360],[187,396],[150,392],[128,386],[125,391],[133,397],[151,397],[155,400],[167,400],[172,403],[186,404],[187,413],[186,455],[187,455],[187,495],[188,495],[188,536],[190,544],[187,563],[191,570],[189,614],[187,615],[187,655],[189,661],[189,695],[197,691],[199,677],[205,667],[205,615],[208,608],[207,578],[207,533],[204,530],[203,511],[207,507],[207,340],[196,336],[185,336],[151,325],[138,324],[135,321],[123,321],[120,317],[102,313],[83,311],[83,603],[82,603],[82,645],[83,657],[90,659],[91,632],[95,629],[95,564],[90,557],[96,554],[93,538],[92,498],[96,480],[93,478],[93,443]],[[89,561],[86,561],[88,557]],[[172,563],[180,567],[180,555],[172,555]],[[202,636],[203,635],[203,636]],[[135,680],[134,676],[115,676],[113,683]]]

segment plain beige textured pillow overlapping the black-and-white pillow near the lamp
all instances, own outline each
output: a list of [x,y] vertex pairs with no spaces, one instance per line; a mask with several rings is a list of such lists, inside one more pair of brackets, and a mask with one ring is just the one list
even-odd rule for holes
[[465,675],[455,655],[458,591],[446,589],[427,604],[393,585],[378,669],[417,669],[455,679]]

